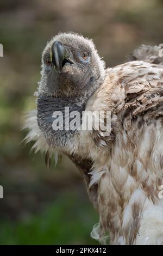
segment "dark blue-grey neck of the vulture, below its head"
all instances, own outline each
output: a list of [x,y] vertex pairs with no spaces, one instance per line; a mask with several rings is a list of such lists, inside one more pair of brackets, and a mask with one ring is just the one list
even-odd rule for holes
[[82,124],[85,103],[78,98],[55,98],[41,95],[37,98],[37,123],[51,147],[65,148]]

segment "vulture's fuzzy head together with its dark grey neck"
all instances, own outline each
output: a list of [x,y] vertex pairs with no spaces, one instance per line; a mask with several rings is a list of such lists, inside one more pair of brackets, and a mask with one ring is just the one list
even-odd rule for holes
[[[47,43],[42,54],[41,81],[37,92],[37,123],[52,147],[65,147],[74,131],[54,129],[54,112],[64,117],[78,111],[82,118],[87,100],[104,80],[104,62],[92,40],[61,33]],[[82,119],[80,119],[82,120]],[[79,120],[79,123],[80,123]]]

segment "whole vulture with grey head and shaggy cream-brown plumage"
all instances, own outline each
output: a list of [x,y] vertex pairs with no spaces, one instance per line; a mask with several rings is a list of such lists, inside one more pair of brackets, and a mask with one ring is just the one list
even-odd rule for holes
[[[55,35],[42,53],[36,109],[24,125],[26,141],[45,153],[47,167],[61,154],[76,164],[99,214],[91,236],[101,244],[163,245],[159,53],[159,46],[142,45],[127,62],[106,68],[92,39],[73,32]],[[97,120],[103,112],[109,132],[96,122],[90,130],[71,129],[67,120],[70,125],[74,112],[79,113],[76,127],[86,123],[84,113]],[[56,122],[60,129],[54,129]]]

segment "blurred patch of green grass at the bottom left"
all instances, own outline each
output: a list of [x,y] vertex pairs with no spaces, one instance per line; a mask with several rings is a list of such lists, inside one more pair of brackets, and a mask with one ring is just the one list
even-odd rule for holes
[[65,194],[52,202],[41,214],[1,225],[1,245],[96,245],[90,237],[98,221],[90,204],[73,194]]

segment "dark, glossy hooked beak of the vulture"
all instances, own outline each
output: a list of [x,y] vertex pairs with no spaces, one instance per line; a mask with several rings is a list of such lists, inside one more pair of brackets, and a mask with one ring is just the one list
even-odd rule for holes
[[61,72],[66,62],[69,62],[68,52],[64,45],[59,41],[55,41],[51,49],[51,61],[54,65],[54,70]]

